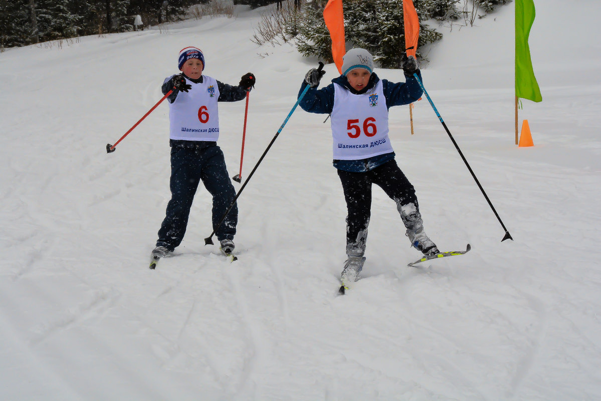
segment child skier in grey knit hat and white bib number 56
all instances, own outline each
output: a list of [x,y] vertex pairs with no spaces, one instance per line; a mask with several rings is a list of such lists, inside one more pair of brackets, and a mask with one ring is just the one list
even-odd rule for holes
[[388,109],[409,104],[423,93],[413,77],[421,78],[413,56],[401,58],[406,82],[392,83],[373,73],[373,58],[365,49],[352,49],[343,57],[341,76],[317,89],[325,71],[312,68],[305,76],[299,96],[308,89],[300,106],[311,113],[331,113],[334,167],[342,182],[348,215],[346,255],[341,274],[349,288],[359,279],[365,263],[367,226],[371,214],[371,184],[379,185],[397,204],[413,247],[424,255],[439,253],[423,228],[415,189],[394,160],[388,138]]

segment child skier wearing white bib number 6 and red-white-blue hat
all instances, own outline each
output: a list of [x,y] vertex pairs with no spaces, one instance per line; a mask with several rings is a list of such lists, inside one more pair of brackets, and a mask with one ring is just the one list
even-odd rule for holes
[[[171,146],[171,200],[165,220],[159,230],[153,258],[162,258],[182,243],[188,216],[198,184],[213,196],[213,229],[219,224],[236,191],[225,167],[224,154],[217,145],[219,138],[219,101],[238,101],[246,97],[255,84],[251,73],[242,76],[238,86],[227,85],[203,75],[204,55],[197,47],[180,51],[178,68],[182,71],[163,82],[169,101],[169,146]],[[221,252],[230,255],[234,250],[234,235],[238,221],[237,205],[231,209],[216,236]]]

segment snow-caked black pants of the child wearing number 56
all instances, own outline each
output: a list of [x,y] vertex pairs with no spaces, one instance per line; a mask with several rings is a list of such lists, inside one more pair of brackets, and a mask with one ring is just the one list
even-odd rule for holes
[[368,172],[348,172],[338,170],[342,182],[344,200],[348,214],[346,217],[346,253],[349,256],[363,256],[367,241],[367,226],[371,216],[371,184],[384,190],[397,204],[398,213],[407,229],[418,223],[421,216],[415,188],[403,174],[395,160],[387,161]]

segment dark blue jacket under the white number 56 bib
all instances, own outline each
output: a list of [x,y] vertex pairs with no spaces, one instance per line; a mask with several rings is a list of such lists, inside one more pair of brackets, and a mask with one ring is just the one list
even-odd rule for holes
[[[421,80],[421,72],[418,71],[419,79]],[[382,79],[382,88],[384,91],[384,97],[386,98],[386,107],[390,109],[392,106],[400,106],[401,104],[409,104],[417,101],[423,91],[417,79],[414,76],[405,75],[406,82],[390,82],[389,80]],[[349,80],[346,76],[341,75],[337,78],[332,79],[332,83],[322,89],[309,88],[305,97],[302,98],[301,109],[310,113],[329,114],[334,109],[334,83],[342,86],[347,91],[360,95],[364,94],[374,86],[380,80],[376,73],[372,73],[370,80],[367,85],[361,91],[356,91],[350,86]],[[308,83],[303,81],[301,90],[299,91],[299,97],[307,87]],[[394,152],[386,153],[362,160],[334,160],[334,167],[344,171],[350,172],[366,172],[381,166],[386,161],[394,158]]]

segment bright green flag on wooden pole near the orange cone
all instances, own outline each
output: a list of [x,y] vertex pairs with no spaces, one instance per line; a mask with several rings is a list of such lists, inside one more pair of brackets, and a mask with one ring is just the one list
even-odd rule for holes
[[542,101],[540,88],[532,70],[528,36],[534,22],[534,1],[516,1],[516,96],[532,101]]

